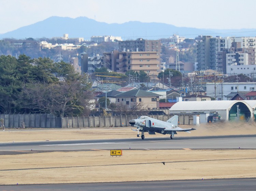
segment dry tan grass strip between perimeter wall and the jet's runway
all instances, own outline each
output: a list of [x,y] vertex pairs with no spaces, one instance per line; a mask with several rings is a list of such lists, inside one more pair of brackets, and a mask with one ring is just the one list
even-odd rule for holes
[[[213,123],[199,126],[181,125],[181,128],[196,128],[191,133],[180,132],[175,136],[220,136],[220,135],[251,135],[256,134],[255,123]],[[137,132],[132,127],[95,127],[69,129],[5,129],[0,130],[0,142],[23,141],[55,141],[55,140],[84,140],[84,139],[124,139],[135,138]],[[145,137],[169,137],[169,135],[149,135]]]

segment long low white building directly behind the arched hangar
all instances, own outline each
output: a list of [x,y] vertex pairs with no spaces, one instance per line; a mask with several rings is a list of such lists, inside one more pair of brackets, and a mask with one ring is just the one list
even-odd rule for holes
[[249,92],[254,90],[256,90],[256,82],[206,83],[207,96],[214,98],[216,95],[216,100],[227,100],[225,96],[231,92]]

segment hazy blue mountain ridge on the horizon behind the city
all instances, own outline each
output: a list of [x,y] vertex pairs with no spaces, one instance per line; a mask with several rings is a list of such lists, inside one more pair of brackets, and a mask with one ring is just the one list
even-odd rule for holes
[[[243,33],[246,31],[246,33]],[[247,32],[253,31],[253,32]],[[195,38],[198,35],[212,36],[256,36],[256,29],[241,30],[213,30],[196,29],[187,27],[175,27],[165,23],[143,23],[139,21],[129,21],[122,24],[98,22],[87,17],[49,17],[43,21],[21,27],[17,30],[0,34],[0,38],[52,38],[69,34],[70,38],[84,37],[90,40],[91,36],[112,35],[122,36],[126,39],[145,39],[169,38],[173,34],[179,34],[186,38]],[[221,34],[223,33],[223,34]]]

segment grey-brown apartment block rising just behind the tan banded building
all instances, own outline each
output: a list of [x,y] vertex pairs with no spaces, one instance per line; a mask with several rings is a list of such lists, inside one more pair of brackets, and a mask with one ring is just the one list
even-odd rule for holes
[[136,40],[125,40],[119,42],[119,51],[130,52],[159,52],[161,53],[160,40],[145,40],[138,38]]

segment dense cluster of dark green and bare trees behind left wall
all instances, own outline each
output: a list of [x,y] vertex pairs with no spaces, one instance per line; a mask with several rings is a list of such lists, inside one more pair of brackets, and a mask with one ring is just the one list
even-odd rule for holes
[[24,54],[0,56],[1,113],[88,115],[91,98],[91,83],[68,63]]

